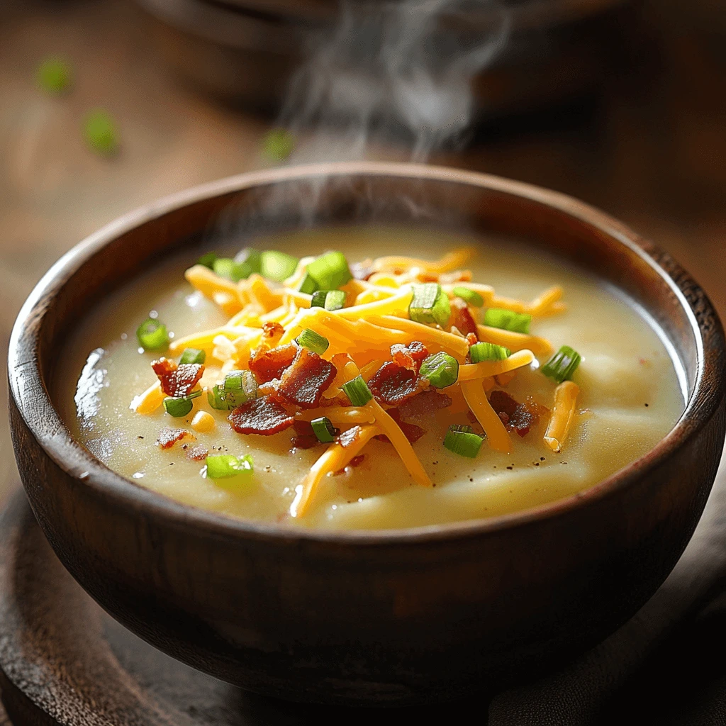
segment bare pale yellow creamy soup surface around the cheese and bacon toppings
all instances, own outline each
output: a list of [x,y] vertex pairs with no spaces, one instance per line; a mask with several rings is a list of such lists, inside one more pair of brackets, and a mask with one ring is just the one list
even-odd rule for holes
[[[488,391],[492,405],[495,391],[504,391],[509,396],[497,399],[498,420],[505,424],[497,431],[489,421],[480,425],[481,415],[470,410],[471,401],[460,390],[463,385],[436,388],[432,383],[426,388],[429,382],[425,380],[421,384],[423,398],[409,397],[401,404],[399,409],[404,415],[399,414],[398,419],[404,418],[418,427],[409,438],[415,439],[410,446],[423,468],[420,478],[425,476],[433,486],[417,482],[410,461],[399,455],[399,447],[391,441],[372,438],[359,446],[359,453],[352,460],[343,456],[346,465],[342,470],[317,481],[304,515],[298,512],[295,516],[295,502],[299,507],[301,485],[309,481],[311,467],[329,447],[338,446],[341,455],[346,452],[340,444],[317,444],[309,425],[300,421],[295,428],[269,436],[234,431],[227,421],[229,410],[213,408],[206,395],[234,365],[224,362],[224,356],[229,355],[224,352],[229,348],[224,340],[208,343],[205,370],[198,384],[205,393],[192,399],[192,410],[187,415],[172,417],[160,405],[160,399],[147,413],[130,407],[135,399],[138,409],[136,397],[154,386],[157,377],[150,363],[165,354],[139,347],[136,329],[145,319],[151,316],[166,325],[172,336],[166,356],[178,360],[181,350],[174,347],[174,341],[225,325],[233,310],[227,306],[225,312],[224,298],[217,295],[215,302],[209,290],[205,291],[211,297],[184,280],[184,270],[195,262],[191,253],[186,258],[167,261],[111,295],[81,322],[62,356],[57,399],[71,431],[92,454],[136,484],[179,502],[239,518],[325,529],[400,528],[491,517],[552,502],[597,484],[648,452],[682,413],[679,369],[643,314],[594,278],[542,253],[502,240],[482,241],[430,229],[383,227],[299,232],[274,240],[254,240],[254,245],[301,257],[340,250],[351,264],[363,258],[401,254],[433,261],[454,248],[475,247],[476,255],[463,265],[471,272],[472,287],[476,287],[474,283],[494,287],[497,297],[485,300],[490,306],[516,308],[515,300],[534,300],[529,333],[537,337],[519,335],[524,342],[525,338],[535,343],[544,338],[544,343],[549,341],[552,347],[534,350],[529,364],[497,378],[476,378],[476,364],[468,362],[466,353],[458,355],[460,377],[464,370],[470,371],[467,375],[473,378],[472,386],[478,385],[480,393]],[[227,250],[231,256],[236,252]],[[301,266],[298,272],[303,272]],[[400,273],[401,270],[391,272],[394,276]],[[452,285],[467,285],[468,276],[463,274],[457,281],[457,274],[449,272],[439,277],[441,287],[448,286],[452,306],[456,303]],[[420,274],[419,279],[425,280],[426,275]],[[562,297],[559,301],[544,302],[537,309],[537,296],[552,286],[562,288]],[[274,289],[274,285],[270,287]],[[365,299],[372,298],[369,295]],[[217,304],[220,301],[222,307]],[[484,322],[486,309],[486,304],[468,307],[480,323]],[[429,326],[432,330],[434,327]],[[486,340],[487,329],[478,330],[481,339]],[[513,339],[518,340],[517,334]],[[499,340],[497,335],[493,340]],[[467,345],[473,342],[470,338]],[[423,343],[428,354],[444,349],[426,340]],[[582,356],[571,375],[572,383],[563,384],[566,390],[558,388],[557,381],[542,372],[542,366],[560,346],[571,346]],[[528,354],[513,351],[512,355],[526,360]],[[391,355],[386,356],[390,361]],[[325,353],[322,358],[326,358]],[[330,351],[327,359],[331,359]],[[351,380],[358,366],[373,386],[374,379],[370,378],[370,368],[366,373],[364,359],[359,357],[348,367],[340,358],[333,358],[333,362],[337,377],[330,391],[338,391],[339,401],[346,398],[340,383]],[[343,369],[348,371],[347,379]],[[415,378],[415,372],[411,375]],[[417,381],[420,383],[420,378]],[[434,400],[442,395],[450,403],[437,410],[432,411],[436,406],[431,405],[411,406],[411,401],[427,397]],[[441,403],[442,399],[435,400]],[[507,415],[501,409],[512,400],[511,405],[521,404],[523,408],[518,409],[519,413],[510,410]],[[383,407],[391,409],[387,404]],[[554,431],[557,426],[553,423],[558,407],[562,409],[558,412],[559,433]],[[315,410],[319,412],[319,407]],[[200,411],[211,415],[213,421],[206,419],[205,425],[195,424],[195,430],[192,421]],[[529,414],[529,418],[524,417],[524,424],[517,423],[522,412]],[[298,408],[296,415],[305,417],[305,410]],[[370,421],[362,417],[360,421],[363,427],[375,425],[374,417]],[[517,424],[514,428],[513,423]],[[335,433],[350,430],[354,424],[361,425],[353,420],[347,425],[338,420],[334,423],[338,428]],[[209,430],[202,430],[210,425]],[[475,457],[462,456],[443,445],[450,425],[468,425],[471,433],[484,437],[482,442],[454,436],[462,445],[471,445],[473,441],[475,449],[478,441],[481,448],[478,453],[473,452]],[[165,449],[160,440],[170,438],[170,428],[184,431],[184,438]],[[502,431],[508,434],[510,452],[505,450],[506,442],[502,443]],[[490,435],[485,437],[485,432]],[[546,434],[553,432],[556,436],[550,436],[548,442]],[[383,430],[373,433],[380,436]],[[501,444],[498,450],[497,441]],[[468,453],[472,453],[471,449]],[[206,454],[232,454],[238,460],[248,454],[253,460],[253,471],[212,479],[205,476]]]

